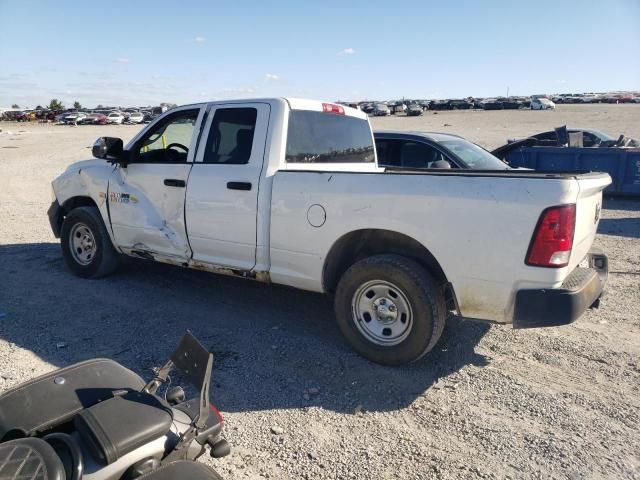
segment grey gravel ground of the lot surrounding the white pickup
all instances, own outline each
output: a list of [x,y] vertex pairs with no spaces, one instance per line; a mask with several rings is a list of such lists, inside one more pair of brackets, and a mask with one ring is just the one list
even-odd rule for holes
[[[565,122],[640,137],[640,106],[374,120],[487,147]],[[386,368],[349,349],[321,295],[138,261],[72,276],[49,181],[138,128],[0,124],[0,391],[94,356],[148,376],[190,328],[216,354],[234,450],[204,461],[225,478],[640,478],[640,200],[604,203],[599,310],[528,331],[452,319],[421,362]]]

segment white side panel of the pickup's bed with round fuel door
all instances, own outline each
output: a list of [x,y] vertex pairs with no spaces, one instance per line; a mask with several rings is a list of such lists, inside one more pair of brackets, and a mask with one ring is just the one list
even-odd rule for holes
[[[518,289],[559,287],[585,257],[609,182],[608,175],[591,172],[279,171],[271,199],[271,276],[322,291],[317,279],[336,239],[358,229],[398,232],[438,260],[462,315],[509,323]],[[569,265],[526,265],[541,213],[571,203],[577,219]],[[324,212],[321,226],[310,224],[310,206]]]

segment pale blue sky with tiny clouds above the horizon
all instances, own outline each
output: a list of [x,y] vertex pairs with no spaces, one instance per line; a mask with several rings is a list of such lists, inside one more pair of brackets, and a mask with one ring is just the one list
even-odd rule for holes
[[0,0],[0,106],[640,89],[640,0]]

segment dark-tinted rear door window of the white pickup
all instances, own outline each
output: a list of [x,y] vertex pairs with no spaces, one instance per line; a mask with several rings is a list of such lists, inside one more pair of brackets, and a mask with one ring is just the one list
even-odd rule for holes
[[257,116],[255,108],[217,109],[207,139],[204,163],[249,163]]

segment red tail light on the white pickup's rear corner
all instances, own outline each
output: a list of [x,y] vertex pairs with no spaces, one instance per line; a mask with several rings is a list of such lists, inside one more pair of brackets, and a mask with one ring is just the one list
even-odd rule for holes
[[533,232],[526,264],[536,267],[566,267],[571,257],[575,229],[575,205],[547,208],[540,215]]

